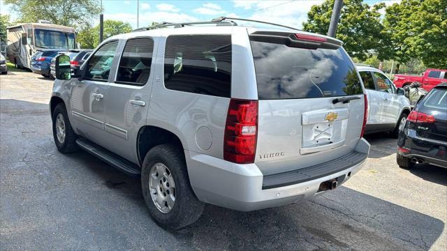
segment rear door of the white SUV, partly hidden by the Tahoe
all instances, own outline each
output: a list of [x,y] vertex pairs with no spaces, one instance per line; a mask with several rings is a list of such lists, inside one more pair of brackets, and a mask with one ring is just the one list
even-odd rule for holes
[[381,123],[383,120],[381,116],[384,113],[383,100],[379,91],[376,91],[374,77],[370,71],[360,71],[359,73],[368,98],[367,125]]

